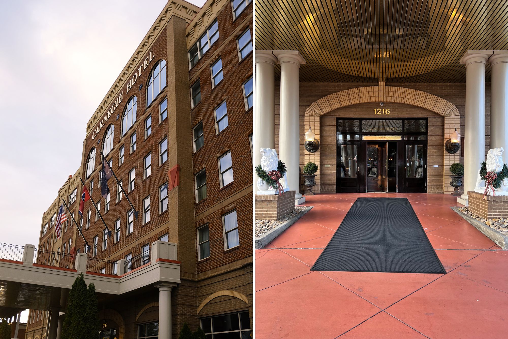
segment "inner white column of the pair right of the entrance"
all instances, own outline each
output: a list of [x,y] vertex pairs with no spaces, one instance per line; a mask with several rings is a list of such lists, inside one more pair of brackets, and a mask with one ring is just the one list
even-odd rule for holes
[[[485,160],[485,63],[488,51],[467,51],[460,60],[466,65],[466,119],[464,130],[464,194],[458,202],[467,205],[474,191],[480,163]],[[461,199],[462,198],[462,199]]]

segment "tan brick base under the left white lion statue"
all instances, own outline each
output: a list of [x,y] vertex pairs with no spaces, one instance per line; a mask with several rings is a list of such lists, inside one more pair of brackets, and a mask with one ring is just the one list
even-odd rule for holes
[[287,191],[282,195],[256,194],[256,219],[278,220],[295,210],[296,191]]

